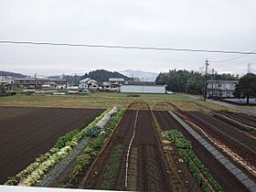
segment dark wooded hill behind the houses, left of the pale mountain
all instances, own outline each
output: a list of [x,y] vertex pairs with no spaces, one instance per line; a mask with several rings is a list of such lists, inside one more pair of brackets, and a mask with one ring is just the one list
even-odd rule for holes
[[91,78],[93,80],[97,80],[98,82],[108,81],[109,78],[123,78],[124,80],[128,80],[127,76],[119,72],[112,72],[104,69],[92,70],[89,73],[85,73],[83,76],[81,76],[80,80],[85,78]]

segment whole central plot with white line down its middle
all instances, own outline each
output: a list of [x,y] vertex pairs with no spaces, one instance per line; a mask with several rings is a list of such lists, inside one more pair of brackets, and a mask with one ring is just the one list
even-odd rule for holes
[[83,188],[172,191],[150,111],[127,110]]

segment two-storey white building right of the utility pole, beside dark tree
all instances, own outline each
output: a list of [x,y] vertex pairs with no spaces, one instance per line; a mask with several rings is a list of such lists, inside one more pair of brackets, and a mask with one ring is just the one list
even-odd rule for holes
[[208,80],[208,97],[232,98],[238,80]]

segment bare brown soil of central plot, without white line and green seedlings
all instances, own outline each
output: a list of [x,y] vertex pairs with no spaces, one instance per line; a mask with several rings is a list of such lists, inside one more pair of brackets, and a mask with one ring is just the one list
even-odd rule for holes
[[128,187],[124,186],[125,157],[128,151],[128,144],[133,136],[136,112],[136,110],[127,110],[125,112],[117,132],[112,135],[111,143],[99,157],[98,164],[92,169],[91,176],[83,184],[83,188],[98,189],[100,187],[114,146],[122,144],[124,147],[123,160],[119,162],[119,169],[117,176],[114,177],[115,185],[112,190],[129,190],[131,187],[136,187],[134,190],[137,191],[172,191],[169,184],[168,169],[164,164],[164,157],[160,154],[159,145],[157,144],[151,113],[146,110],[140,110],[138,113],[136,133],[131,150],[133,153],[131,158],[133,159],[129,161],[130,164],[133,163],[130,167],[135,167],[136,170],[128,170],[133,175],[128,175]]

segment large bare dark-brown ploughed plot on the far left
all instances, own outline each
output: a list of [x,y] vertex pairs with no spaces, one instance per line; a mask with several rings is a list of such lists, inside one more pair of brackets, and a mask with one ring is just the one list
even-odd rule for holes
[[102,112],[23,107],[1,107],[0,111],[5,112],[0,119],[0,184],[46,153],[59,136],[87,125]]

